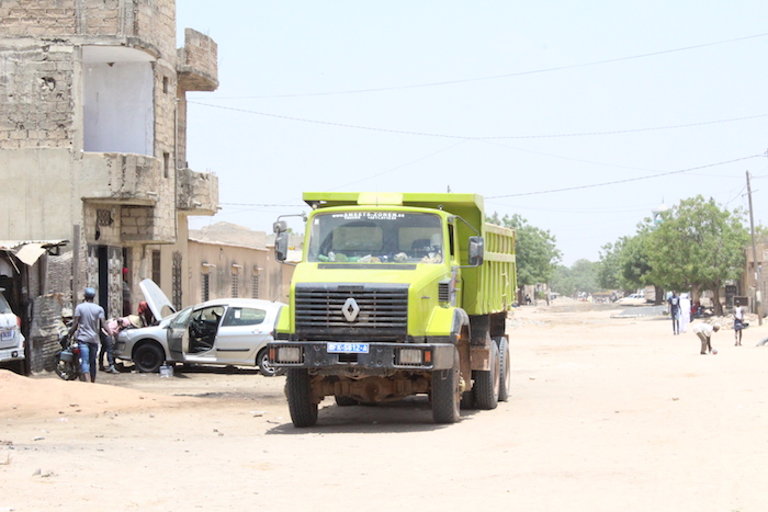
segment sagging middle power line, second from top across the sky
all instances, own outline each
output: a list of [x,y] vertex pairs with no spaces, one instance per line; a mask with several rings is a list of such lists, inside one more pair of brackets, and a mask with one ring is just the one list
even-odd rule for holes
[[383,133],[399,134],[399,135],[418,135],[421,137],[453,138],[453,139],[462,139],[462,140],[502,140],[502,139],[534,139],[534,138],[558,138],[558,137],[590,137],[590,136],[596,136],[596,135],[618,135],[618,134],[630,134],[630,133],[637,133],[637,132],[654,132],[654,130],[663,130],[663,129],[690,128],[693,126],[704,126],[704,125],[712,125],[712,124],[720,124],[720,123],[733,123],[736,121],[755,120],[758,117],[768,116],[768,113],[767,113],[767,114],[749,115],[749,116],[744,116],[744,117],[731,117],[727,120],[703,121],[700,123],[690,123],[690,124],[682,124],[682,125],[656,126],[656,127],[651,127],[651,128],[617,129],[617,130],[609,130],[609,132],[587,132],[587,133],[571,133],[571,134],[551,134],[551,135],[508,135],[508,136],[481,137],[481,136],[467,136],[467,135],[432,134],[432,133],[427,133],[427,132],[411,132],[411,130],[404,130],[404,129],[377,128],[377,127],[372,127],[372,126],[352,125],[352,124],[337,123],[337,122],[331,122],[331,121],[307,120],[304,117],[294,117],[294,116],[281,115],[281,114],[270,114],[267,112],[258,112],[258,111],[252,111],[252,110],[248,110],[248,109],[237,109],[234,106],[212,105],[210,103],[202,103],[202,102],[197,102],[197,101],[189,101],[188,103],[192,103],[195,105],[202,105],[202,106],[210,106],[212,109],[221,109],[221,110],[226,110],[226,111],[242,112],[246,114],[262,115],[266,117],[274,117],[278,120],[297,121],[301,123],[313,123],[313,124],[320,124],[320,125],[326,125],[326,126],[336,126],[339,128],[365,129],[369,132],[383,132]]

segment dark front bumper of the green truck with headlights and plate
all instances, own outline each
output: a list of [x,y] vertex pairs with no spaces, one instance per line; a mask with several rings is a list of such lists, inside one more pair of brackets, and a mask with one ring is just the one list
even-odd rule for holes
[[280,368],[434,371],[453,367],[451,343],[337,343],[273,341],[269,362]]

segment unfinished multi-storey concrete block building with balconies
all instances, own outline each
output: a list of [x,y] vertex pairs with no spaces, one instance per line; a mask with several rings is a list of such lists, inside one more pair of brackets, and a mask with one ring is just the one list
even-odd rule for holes
[[2,0],[0,20],[0,240],[55,241],[71,272],[44,262],[16,292],[93,286],[120,316],[126,268],[134,312],[145,277],[181,306],[188,216],[218,208],[185,138],[187,92],[218,86],[216,44],[188,29],[177,49],[174,0]]

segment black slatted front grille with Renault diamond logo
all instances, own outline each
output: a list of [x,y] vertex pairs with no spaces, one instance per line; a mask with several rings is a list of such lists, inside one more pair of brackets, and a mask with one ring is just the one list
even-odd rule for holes
[[403,341],[407,328],[407,285],[296,285],[300,339]]

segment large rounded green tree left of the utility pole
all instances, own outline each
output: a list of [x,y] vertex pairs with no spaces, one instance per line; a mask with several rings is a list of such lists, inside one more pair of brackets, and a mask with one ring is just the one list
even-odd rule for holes
[[744,268],[749,237],[744,213],[723,209],[703,196],[682,200],[665,212],[646,246],[653,280],[668,289],[700,287],[714,295],[722,315],[720,288],[736,280]]

